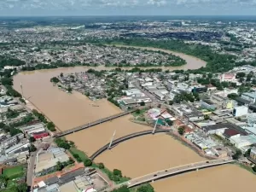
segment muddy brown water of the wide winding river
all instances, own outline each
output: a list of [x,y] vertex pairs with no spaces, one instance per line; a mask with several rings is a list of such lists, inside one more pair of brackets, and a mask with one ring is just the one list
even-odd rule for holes
[[[205,62],[195,57],[189,57],[187,62],[186,66],[169,69],[198,68],[205,65]],[[93,107],[93,102],[86,96],[77,92],[69,95],[49,82],[50,78],[60,73],[84,72],[87,69],[88,67],[72,67],[19,73],[14,77],[14,87],[20,91],[22,82],[26,99],[52,120],[61,131],[65,131],[120,112],[119,108],[106,100],[98,101],[99,107]],[[131,123],[129,118],[131,117],[128,115],[96,125],[71,134],[67,139],[75,142],[79,149],[90,155],[109,142],[113,131],[116,131],[115,138],[118,138],[132,132],[151,129],[148,126]],[[118,168],[128,177],[138,177],[199,160],[203,159],[198,154],[164,133],[119,143],[115,148],[96,158],[96,162],[104,162],[109,169]],[[153,186],[157,192],[242,192],[255,191],[255,181],[256,177],[252,173],[238,166],[228,165],[169,177],[154,182]]]

